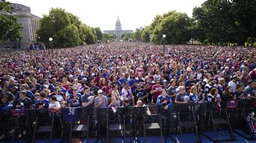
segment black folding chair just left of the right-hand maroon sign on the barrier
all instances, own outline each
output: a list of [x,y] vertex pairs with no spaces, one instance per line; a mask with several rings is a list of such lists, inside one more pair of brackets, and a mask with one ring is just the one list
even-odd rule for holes
[[[203,134],[203,135],[206,138],[213,141],[213,142],[217,142],[217,141],[235,141],[233,131],[232,131],[232,128],[231,128],[231,125],[230,125],[230,120],[228,119],[228,115],[227,115],[226,110],[221,110],[221,112],[219,112],[217,110],[216,106],[215,106],[216,103],[209,103],[209,105],[210,105],[209,106],[210,110],[208,110],[208,111],[210,111],[210,116],[208,118],[208,126],[210,126],[210,123],[212,123],[215,139],[209,137],[206,134]],[[223,105],[224,104],[221,103],[221,107],[223,109],[225,109]],[[230,134],[231,134],[231,139],[219,139],[218,135],[217,135],[216,125],[226,125],[228,127],[228,130],[229,130]]]

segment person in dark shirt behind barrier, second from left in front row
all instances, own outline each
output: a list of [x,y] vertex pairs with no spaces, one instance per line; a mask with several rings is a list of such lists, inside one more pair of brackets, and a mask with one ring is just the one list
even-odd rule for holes
[[17,109],[32,109],[32,101],[29,97],[26,97],[26,91],[19,92],[19,99],[16,105]]

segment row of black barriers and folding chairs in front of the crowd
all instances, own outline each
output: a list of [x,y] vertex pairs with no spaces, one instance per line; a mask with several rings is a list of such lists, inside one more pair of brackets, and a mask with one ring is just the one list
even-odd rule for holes
[[[144,142],[146,142],[147,135],[159,135],[160,133],[161,142],[164,142],[164,136],[165,142],[167,138],[178,142],[171,134],[179,133],[180,141],[184,142],[185,131],[196,132],[197,142],[201,142],[199,134],[203,134],[214,142],[234,141],[233,132],[248,140],[255,140],[255,132],[252,130],[256,123],[255,111],[256,100],[247,99],[221,102],[219,105],[217,102],[173,104],[167,110],[164,110],[163,106],[64,108],[58,111],[16,109],[0,112],[0,135],[4,134],[5,139],[11,139],[12,142],[17,139],[17,134],[22,134],[22,138],[31,139],[32,142],[35,142],[36,137],[44,134],[46,134],[45,137],[50,136],[50,142],[53,136],[71,142],[71,138],[77,138],[76,135],[82,132],[87,142],[89,137],[97,137],[96,142],[98,140],[103,142],[104,135],[106,142],[109,142],[112,133],[113,137],[121,135],[126,138],[126,135],[129,135],[130,142],[133,140],[140,142],[137,136],[143,134]],[[226,128],[231,138],[219,139],[217,130],[220,128]],[[240,134],[235,129],[242,129],[247,135]],[[207,131],[213,131],[215,138],[205,134]]]

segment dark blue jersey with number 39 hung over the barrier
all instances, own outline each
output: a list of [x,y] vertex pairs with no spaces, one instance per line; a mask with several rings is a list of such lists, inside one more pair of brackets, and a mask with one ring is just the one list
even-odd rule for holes
[[64,108],[62,109],[63,120],[78,121],[79,108]]

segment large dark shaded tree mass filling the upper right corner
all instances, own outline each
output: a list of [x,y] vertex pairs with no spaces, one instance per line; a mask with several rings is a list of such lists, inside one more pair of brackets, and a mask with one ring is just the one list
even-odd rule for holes
[[256,35],[256,1],[207,0],[193,9],[193,37],[205,44],[245,45]]

